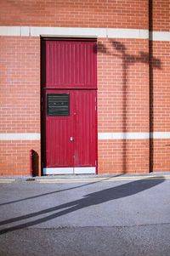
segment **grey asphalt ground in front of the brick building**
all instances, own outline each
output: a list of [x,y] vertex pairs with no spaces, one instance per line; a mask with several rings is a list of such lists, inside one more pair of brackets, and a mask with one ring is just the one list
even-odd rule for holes
[[170,255],[170,179],[0,184],[0,256]]

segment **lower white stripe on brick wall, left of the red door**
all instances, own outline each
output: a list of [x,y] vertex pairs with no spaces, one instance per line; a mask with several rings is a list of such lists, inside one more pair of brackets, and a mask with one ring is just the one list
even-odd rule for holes
[[0,140],[39,140],[40,134],[0,134]]

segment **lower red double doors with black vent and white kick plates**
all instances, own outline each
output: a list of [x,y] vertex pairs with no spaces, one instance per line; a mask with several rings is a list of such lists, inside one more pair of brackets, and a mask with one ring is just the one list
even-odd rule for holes
[[96,91],[45,90],[43,174],[95,174]]

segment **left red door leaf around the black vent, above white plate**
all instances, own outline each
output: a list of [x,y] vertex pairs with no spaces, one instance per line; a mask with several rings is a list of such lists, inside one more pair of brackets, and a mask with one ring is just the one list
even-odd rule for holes
[[[72,106],[70,105],[69,116],[48,116],[48,95],[49,94],[69,94],[69,91],[46,90],[44,93],[45,101],[45,155],[46,168],[55,167],[73,167],[73,144],[71,136],[73,136]],[[71,100],[72,101],[72,100]]]

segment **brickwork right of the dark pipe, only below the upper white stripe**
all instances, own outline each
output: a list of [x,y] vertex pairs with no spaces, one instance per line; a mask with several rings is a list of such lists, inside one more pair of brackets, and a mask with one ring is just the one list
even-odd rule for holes
[[[163,41],[153,42],[153,56],[159,60],[159,68],[153,68],[151,86],[151,119],[152,132],[170,131],[170,76],[169,59],[170,43]],[[153,171],[170,171],[170,140],[151,139],[151,168]]]

